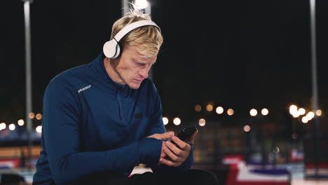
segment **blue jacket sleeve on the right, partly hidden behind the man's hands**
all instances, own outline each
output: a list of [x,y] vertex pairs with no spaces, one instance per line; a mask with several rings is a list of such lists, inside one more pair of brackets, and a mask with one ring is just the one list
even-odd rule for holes
[[[160,97],[158,95],[157,89],[156,87],[153,85],[153,98],[155,104],[153,107],[153,114],[151,115],[151,131],[149,133],[149,135],[153,135],[153,134],[163,134],[164,132],[166,132],[165,126],[163,124],[163,116],[162,116],[162,105],[160,103]],[[158,149],[158,153],[160,153],[161,150],[161,145],[160,148]],[[159,154],[160,156],[160,154]],[[158,160],[159,160],[159,156],[158,156]],[[191,165],[193,165],[193,144],[191,144],[191,151],[189,154],[189,157],[186,158],[186,160],[184,161],[184,163],[182,163],[182,165],[180,165],[179,167],[170,167],[167,165],[154,165],[151,164],[151,170],[153,170],[153,172],[175,172],[175,171],[184,171],[184,170],[189,170],[191,168]]]

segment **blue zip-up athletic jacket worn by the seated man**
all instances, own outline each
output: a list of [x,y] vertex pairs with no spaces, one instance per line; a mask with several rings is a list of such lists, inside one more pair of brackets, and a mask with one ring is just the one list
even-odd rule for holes
[[153,172],[187,170],[156,165],[162,141],[146,138],[164,133],[162,107],[149,78],[139,89],[111,80],[101,53],[90,64],[62,72],[43,97],[42,149],[33,184],[69,184],[83,175],[114,170],[129,175],[144,163]]

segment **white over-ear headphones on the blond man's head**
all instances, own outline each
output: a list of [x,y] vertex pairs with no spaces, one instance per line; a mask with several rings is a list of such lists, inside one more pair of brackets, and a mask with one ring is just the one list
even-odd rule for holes
[[113,39],[104,43],[104,47],[102,48],[102,50],[104,51],[104,55],[109,58],[118,57],[121,51],[118,42],[123,38],[123,36],[131,32],[133,29],[144,26],[157,27],[160,31],[160,27],[158,27],[158,25],[156,25],[156,23],[151,20],[139,20],[137,22],[133,22],[130,25],[123,27],[123,29],[121,29],[121,31],[118,32]]

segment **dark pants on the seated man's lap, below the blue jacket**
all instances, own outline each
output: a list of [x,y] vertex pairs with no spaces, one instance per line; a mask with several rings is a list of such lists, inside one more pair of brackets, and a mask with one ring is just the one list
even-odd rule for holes
[[90,174],[76,181],[74,184],[92,185],[217,185],[219,181],[212,172],[191,169],[185,172],[172,174],[159,174],[145,172],[144,174],[133,174],[126,177],[116,172],[102,172]]

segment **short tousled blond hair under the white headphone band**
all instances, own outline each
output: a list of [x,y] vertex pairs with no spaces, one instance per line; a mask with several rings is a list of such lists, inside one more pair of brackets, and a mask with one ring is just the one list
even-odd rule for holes
[[[151,17],[142,13],[137,8],[131,8],[129,13],[123,18],[114,22],[111,31],[111,39],[126,25],[139,20],[151,20]],[[163,36],[160,34],[158,28],[153,26],[145,26],[133,29],[130,33],[123,36],[119,41],[121,48],[125,46],[137,46],[137,52],[146,57],[153,57],[158,54],[160,46],[163,43]]]

